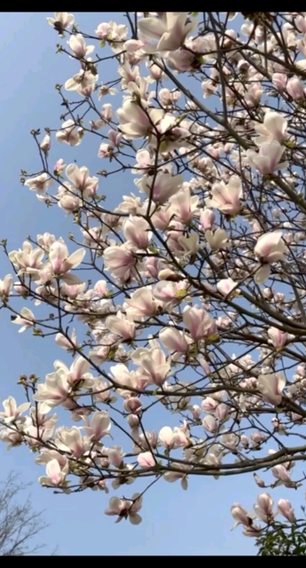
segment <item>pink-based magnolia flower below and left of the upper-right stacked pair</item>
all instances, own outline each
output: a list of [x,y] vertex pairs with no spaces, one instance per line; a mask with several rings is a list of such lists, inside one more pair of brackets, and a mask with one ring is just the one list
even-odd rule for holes
[[227,185],[223,181],[213,184],[211,196],[211,199],[205,201],[207,207],[219,209],[225,215],[237,215],[242,207],[242,185],[239,177],[231,176]]

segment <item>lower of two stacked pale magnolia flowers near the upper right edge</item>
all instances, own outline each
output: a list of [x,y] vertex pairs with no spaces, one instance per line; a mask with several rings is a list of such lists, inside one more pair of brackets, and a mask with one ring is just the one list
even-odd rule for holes
[[284,152],[284,146],[280,146],[277,140],[271,140],[259,146],[258,154],[254,150],[247,150],[247,161],[252,168],[265,176],[272,174],[275,170],[286,168],[287,162],[280,162]]

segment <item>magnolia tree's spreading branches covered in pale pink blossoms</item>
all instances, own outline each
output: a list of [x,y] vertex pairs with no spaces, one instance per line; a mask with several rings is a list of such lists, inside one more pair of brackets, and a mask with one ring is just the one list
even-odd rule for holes
[[[186,490],[193,475],[258,469],[272,476],[255,474],[262,488],[304,481],[306,12],[247,13],[137,12],[92,35],[73,14],[48,18],[79,67],[57,86],[59,129],[33,131],[42,170],[22,183],[78,233],[69,247],[51,233],[19,250],[3,241],[0,280],[19,331],[73,359],[44,381],[20,377],[31,401],[8,397],[0,413],[0,438],[37,454],[43,486],[109,493],[163,478]],[[51,162],[90,133],[98,173]],[[118,172],[118,193],[135,189],[108,208],[99,187]],[[137,525],[145,491],[111,496],[106,515]],[[269,493],[254,509],[231,514],[256,537],[255,517],[270,527],[277,513]],[[296,522],[288,500],[277,512]]]

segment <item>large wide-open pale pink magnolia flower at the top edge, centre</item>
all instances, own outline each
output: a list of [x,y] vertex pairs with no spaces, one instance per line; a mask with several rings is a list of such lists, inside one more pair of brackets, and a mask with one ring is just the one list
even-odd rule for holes
[[188,12],[162,12],[160,18],[145,18],[138,21],[141,38],[145,42],[157,40],[157,44],[146,44],[147,53],[157,51],[176,51],[184,43],[188,34],[197,27],[197,21],[186,23]]

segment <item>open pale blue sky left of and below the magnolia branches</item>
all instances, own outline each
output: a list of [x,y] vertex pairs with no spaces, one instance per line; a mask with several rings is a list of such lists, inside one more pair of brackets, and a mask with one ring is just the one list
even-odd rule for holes
[[[93,34],[102,21],[116,20],[114,12],[74,12],[80,28]],[[30,130],[48,126],[59,127],[59,95],[56,83],[64,83],[77,70],[77,64],[65,55],[55,54],[59,41],[48,26],[46,17],[51,12],[2,12],[0,19],[1,74],[0,74],[0,164],[1,164],[1,223],[0,239],[8,240],[9,250],[20,248],[30,234],[54,233],[67,239],[74,230],[71,217],[65,217],[58,208],[46,209],[19,181],[20,170],[40,170],[40,162]],[[75,69],[75,71],[74,71]],[[106,69],[107,72],[107,69]],[[114,75],[114,74],[113,74]],[[100,80],[106,81],[104,76]],[[110,78],[110,77],[109,77]],[[101,103],[114,102],[106,97]],[[94,138],[94,137],[91,137]],[[54,146],[57,146],[56,151]],[[98,146],[85,142],[76,148],[56,145],[51,154],[54,162],[60,157],[65,162],[77,160],[78,165],[90,167],[91,175],[104,167],[98,161]],[[51,163],[53,163],[51,161]],[[103,164],[103,165],[102,165]],[[115,206],[122,201],[122,194],[135,191],[133,177],[116,177],[115,185],[103,180],[100,192],[107,195]],[[76,234],[76,233],[75,233]],[[69,246],[69,241],[67,241]],[[0,255],[0,278],[11,272],[3,254]],[[24,303],[31,307],[28,303]],[[37,308],[36,308],[37,310]],[[18,327],[10,322],[9,312],[0,312],[0,355],[2,375],[0,399],[12,394],[18,403],[24,401],[22,389],[17,386],[21,374],[35,373],[43,377],[53,369],[53,361],[69,362],[64,351],[53,339],[42,340],[30,331],[18,334]],[[0,444],[0,478],[10,470],[22,473],[25,482],[34,482],[33,505],[46,509],[45,519],[50,523],[40,539],[47,544],[43,554],[51,554],[58,545],[61,555],[254,555],[252,539],[247,539],[238,528],[231,532],[233,519],[230,508],[234,501],[251,509],[259,493],[252,476],[223,477],[218,481],[211,477],[192,477],[188,491],[182,491],[179,482],[168,484],[161,480],[145,494],[142,509],[143,523],[138,526],[122,521],[114,525],[114,517],[106,517],[104,509],[110,495],[102,492],[54,495],[43,489],[37,477],[44,475],[43,466],[34,463],[35,454],[27,448],[6,451]],[[126,488],[125,493],[137,491],[137,482]],[[111,494],[122,496],[118,491]],[[294,492],[280,489],[273,497],[292,499]]]

